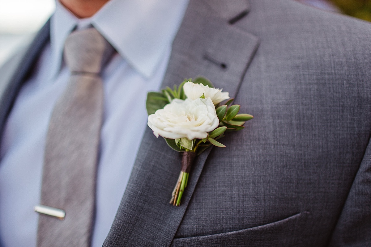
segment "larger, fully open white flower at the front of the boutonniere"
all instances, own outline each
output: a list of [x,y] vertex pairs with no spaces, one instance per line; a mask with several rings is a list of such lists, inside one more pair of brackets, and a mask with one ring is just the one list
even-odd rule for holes
[[219,126],[219,119],[210,98],[174,99],[148,116],[148,126],[156,137],[193,140],[206,138],[207,132]]

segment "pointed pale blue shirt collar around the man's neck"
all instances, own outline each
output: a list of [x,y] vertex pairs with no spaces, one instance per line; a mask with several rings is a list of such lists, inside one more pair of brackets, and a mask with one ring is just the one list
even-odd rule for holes
[[144,77],[151,77],[171,46],[188,0],[110,0],[94,16],[78,19],[56,0],[50,42],[56,76],[63,45],[76,26],[92,24],[122,58]]

